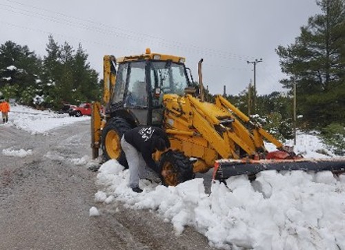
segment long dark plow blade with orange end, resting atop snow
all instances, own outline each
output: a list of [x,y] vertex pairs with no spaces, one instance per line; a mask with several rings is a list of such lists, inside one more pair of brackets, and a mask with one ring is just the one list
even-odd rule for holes
[[213,170],[213,180],[226,180],[231,176],[255,175],[260,171],[332,171],[333,174],[345,172],[345,158],[338,159],[297,159],[297,160],[217,160]]

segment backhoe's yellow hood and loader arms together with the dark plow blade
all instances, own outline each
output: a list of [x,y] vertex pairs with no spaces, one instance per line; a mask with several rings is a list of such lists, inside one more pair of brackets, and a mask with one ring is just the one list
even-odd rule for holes
[[[170,95],[164,104],[166,132],[175,148],[197,159],[194,172],[215,167],[213,178],[217,180],[264,170],[344,172],[345,159],[313,160],[296,155],[222,96],[216,96],[212,104],[189,94]],[[268,152],[264,140],[273,143],[277,151]]]

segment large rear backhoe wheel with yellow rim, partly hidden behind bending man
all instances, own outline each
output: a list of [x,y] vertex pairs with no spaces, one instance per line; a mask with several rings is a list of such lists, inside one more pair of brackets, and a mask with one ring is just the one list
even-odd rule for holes
[[121,138],[131,129],[129,123],[123,118],[110,119],[102,131],[102,149],[104,160],[115,159],[125,168],[128,168],[126,156],[121,149]]

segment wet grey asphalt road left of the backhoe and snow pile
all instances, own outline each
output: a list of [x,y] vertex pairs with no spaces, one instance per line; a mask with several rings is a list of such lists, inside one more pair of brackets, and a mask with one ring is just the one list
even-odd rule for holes
[[[95,206],[96,173],[73,158],[90,156],[90,122],[32,135],[0,126],[0,249],[212,249],[204,236],[154,213],[115,202]],[[20,158],[3,149],[31,149]]]

